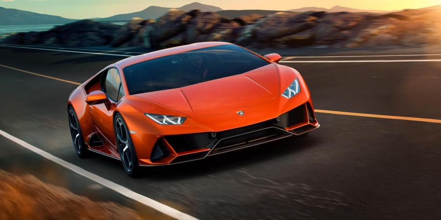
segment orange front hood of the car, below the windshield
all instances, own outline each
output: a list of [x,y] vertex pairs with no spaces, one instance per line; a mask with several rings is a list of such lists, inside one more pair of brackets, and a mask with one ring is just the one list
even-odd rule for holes
[[189,117],[198,117],[253,107],[274,99],[278,93],[277,68],[274,64],[268,64],[240,75],[134,96],[154,101]]

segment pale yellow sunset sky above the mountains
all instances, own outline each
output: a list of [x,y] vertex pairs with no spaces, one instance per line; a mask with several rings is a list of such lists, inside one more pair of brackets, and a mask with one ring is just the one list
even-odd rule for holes
[[[180,7],[195,0],[0,0],[0,7],[16,8],[71,19],[109,17],[141,11],[151,5]],[[289,10],[301,7],[401,10],[441,5],[441,0],[199,0],[222,9]]]

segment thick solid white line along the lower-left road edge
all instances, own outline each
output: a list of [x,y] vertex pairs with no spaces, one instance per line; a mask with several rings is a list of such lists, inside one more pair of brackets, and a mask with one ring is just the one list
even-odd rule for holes
[[85,170],[79,166],[76,166],[72,163],[67,162],[66,160],[62,160],[60,158],[57,158],[57,157],[45,152],[44,150],[42,150],[38,147],[35,147],[35,146],[33,146],[23,140],[20,140],[14,136],[2,131],[2,130],[0,130],[0,135],[9,139],[9,140],[12,140],[12,141],[20,144],[24,148],[27,148],[27,149],[39,154],[40,156],[46,158],[47,160],[51,160],[55,163],[58,163],[58,164],[66,167],[67,169],[69,169],[69,170],[71,170],[71,171],[73,171],[83,177],[86,177],[90,180],[93,180],[93,181],[95,181],[105,187],[108,187],[108,188],[110,188],[110,189],[120,193],[121,195],[132,199],[132,200],[136,200],[136,201],[141,202],[149,207],[152,207],[152,208],[158,210],[159,212],[162,212],[172,218],[180,219],[180,220],[197,220],[193,216],[185,214],[179,210],[176,210],[170,206],[164,205],[158,201],[152,200],[152,199],[145,197],[141,194],[135,193],[132,190],[130,190],[122,185],[119,185],[119,184],[114,183],[110,180],[104,179],[96,174],[90,173],[87,170]]

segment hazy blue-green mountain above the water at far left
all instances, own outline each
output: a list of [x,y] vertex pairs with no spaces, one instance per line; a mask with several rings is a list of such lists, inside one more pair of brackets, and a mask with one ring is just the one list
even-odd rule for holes
[[0,7],[0,25],[65,24],[72,21],[75,20],[66,19],[60,16]]

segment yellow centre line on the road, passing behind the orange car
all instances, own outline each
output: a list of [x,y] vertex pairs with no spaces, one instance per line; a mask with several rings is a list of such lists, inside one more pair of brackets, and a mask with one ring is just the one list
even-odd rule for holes
[[[48,78],[48,79],[52,79],[52,80],[58,80],[58,81],[67,82],[67,83],[71,83],[71,84],[75,84],[75,85],[81,85],[81,83],[79,83],[79,82],[63,80],[60,78],[55,78],[55,77],[50,77],[50,76],[46,76],[43,74],[33,73],[33,72],[26,71],[26,70],[21,70],[21,69],[17,69],[14,67],[1,65],[1,64],[0,64],[0,66],[5,67],[5,68],[9,68],[9,69],[13,69],[13,70],[17,70],[22,73],[32,74],[32,75],[39,76],[39,77],[44,77],[44,78]],[[318,112],[318,113],[335,114],[335,115],[349,115],[349,116],[359,116],[359,117],[369,117],[369,118],[379,118],[379,119],[413,120],[413,121],[422,121],[422,122],[441,123],[441,120],[438,120],[438,119],[424,119],[424,118],[390,116],[390,115],[374,115],[374,114],[364,114],[364,113],[355,113],[355,112],[339,112],[339,111],[329,111],[329,110],[320,110],[320,109],[315,109],[314,111]]]

